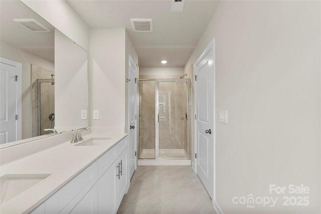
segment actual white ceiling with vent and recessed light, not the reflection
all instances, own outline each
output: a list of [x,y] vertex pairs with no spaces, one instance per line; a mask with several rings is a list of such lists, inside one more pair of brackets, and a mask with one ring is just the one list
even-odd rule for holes
[[[219,1],[186,0],[183,12],[171,12],[172,1],[67,0],[90,28],[125,28],[140,67],[184,67]],[[133,32],[130,19],[152,19],[153,31]]]

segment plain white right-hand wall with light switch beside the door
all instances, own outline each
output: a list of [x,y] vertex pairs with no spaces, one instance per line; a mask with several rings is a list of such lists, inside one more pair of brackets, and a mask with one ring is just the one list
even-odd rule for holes
[[[185,70],[215,38],[216,201],[224,213],[320,213],[320,2],[221,1]],[[270,194],[269,184],[286,186]],[[309,187],[290,194],[288,185]],[[278,197],[274,207],[233,197]],[[285,206],[283,196],[308,196]]]

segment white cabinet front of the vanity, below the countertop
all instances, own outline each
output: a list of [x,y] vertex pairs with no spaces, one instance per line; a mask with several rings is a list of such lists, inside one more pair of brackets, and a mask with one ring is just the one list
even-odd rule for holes
[[30,213],[116,213],[128,187],[125,137]]

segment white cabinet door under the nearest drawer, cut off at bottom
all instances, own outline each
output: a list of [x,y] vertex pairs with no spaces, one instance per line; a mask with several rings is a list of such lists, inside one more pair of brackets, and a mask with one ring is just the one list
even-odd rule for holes
[[97,183],[87,192],[87,194],[77,203],[69,213],[73,214],[96,214],[98,213],[98,188]]

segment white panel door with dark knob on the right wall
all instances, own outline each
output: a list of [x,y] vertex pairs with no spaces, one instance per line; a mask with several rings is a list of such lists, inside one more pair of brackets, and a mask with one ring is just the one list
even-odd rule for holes
[[196,171],[214,200],[214,50],[213,42],[195,63]]

